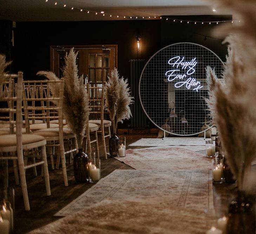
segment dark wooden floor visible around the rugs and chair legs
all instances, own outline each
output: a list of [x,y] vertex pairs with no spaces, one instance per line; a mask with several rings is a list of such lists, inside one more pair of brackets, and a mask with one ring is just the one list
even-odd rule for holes
[[[156,138],[154,135],[125,135],[127,146],[139,139]],[[100,155],[103,155],[102,144],[100,142]],[[126,147],[126,148],[144,148],[144,147]],[[101,178],[113,172],[115,169],[132,169],[124,163],[114,159],[108,158],[105,160],[101,157]],[[15,213],[14,213],[14,227],[15,233],[26,233],[35,228],[53,222],[58,217],[53,215],[60,209],[65,207],[68,203],[76,199],[79,195],[84,193],[88,188],[93,186],[91,183],[77,183],[74,179],[73,165],[67,165],[67,175],[69,186],[65,187],[61,169],[52,170],[49,165],[51,196],[46,196],[44,180],[41,176],[34,177],[31,171],[26,172],[28,196],[31,210],[26,212],[22,199],[22,193],[19,186],[14,184],[13,173],[9,174],[9,186],[15,189]],[[2,174],[0,173],[0,176]],[[214,185],[214,204],[218,210],[218,216],[223,215],[227,210],[227,204],[234,196],[235,185]]]

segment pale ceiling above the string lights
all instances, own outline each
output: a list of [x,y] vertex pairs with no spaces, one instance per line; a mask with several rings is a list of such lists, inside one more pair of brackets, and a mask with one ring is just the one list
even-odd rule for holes
[[[227,9],[218,9],[217,6],[212,5],[212,2],[207,0],[48,0],[47,2],[46,0],[0,0],[0,20],[127,20],[130,17],[136,19],[136,16],[138,19],[144,17],[152,20],[159,19],[161,15],[232,14]],[[214,8],[216,8],[215,12],[212,11]],[[105,16],[100,13],[101,11],[104,11]]]

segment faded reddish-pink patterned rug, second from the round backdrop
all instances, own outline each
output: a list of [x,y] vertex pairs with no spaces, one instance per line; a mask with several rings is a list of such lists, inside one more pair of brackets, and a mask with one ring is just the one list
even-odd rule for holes
[[212,159],[204,154],[172,146],[127,149],[125,157],[117,157],[134,169],[211,169]]

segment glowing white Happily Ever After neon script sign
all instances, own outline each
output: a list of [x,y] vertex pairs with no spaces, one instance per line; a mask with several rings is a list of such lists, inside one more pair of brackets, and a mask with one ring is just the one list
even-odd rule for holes
[[[196,58],[193,58],[191,61],[184,61],[184,59],[184,56],[182,58],[180,56],[176,56],[169,59],[168,63],[172,65],[174,69],[165,72],[167,80],[183,80],[176,82],[174,87],[180,88],[185,86],[187,89],[194,87],[193,91],[198,92],[198,89],[203,88],[203,86],[201,85],[200,81],[197,81],[196,78],[191,77],[191,75],[196,72]],[[184,70],[184,73],[180,72],[180,69]]]

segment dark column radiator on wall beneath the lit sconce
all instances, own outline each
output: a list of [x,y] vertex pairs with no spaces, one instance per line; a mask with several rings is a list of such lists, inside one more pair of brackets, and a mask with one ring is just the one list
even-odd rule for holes
[[130,60],[130,81],[131,81],[131,95],[134,97],[134,103],[131,105],[131,127],[145,128],[147,126],[148,118],[143,111],[139,100],[139,78],[142,70],[146,64],[146,60]]

